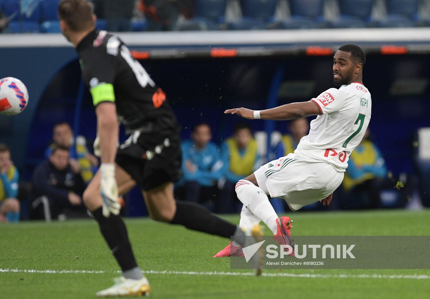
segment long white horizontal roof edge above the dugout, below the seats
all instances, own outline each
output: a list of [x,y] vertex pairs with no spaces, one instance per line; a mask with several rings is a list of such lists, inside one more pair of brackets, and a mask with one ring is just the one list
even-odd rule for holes
[[[430,28],[118,33],[129,46],[281,45],[292,43],[430,42]],[[0,48],[68,47],[61,34],[0,34]]]

